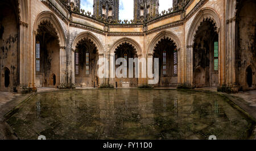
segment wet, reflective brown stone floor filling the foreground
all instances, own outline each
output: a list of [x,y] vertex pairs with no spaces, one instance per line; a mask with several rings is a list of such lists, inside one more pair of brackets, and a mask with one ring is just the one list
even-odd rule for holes
[[18,139],[247,139],[251,120],[215,93],[103,89],[39,93],[6,122]]

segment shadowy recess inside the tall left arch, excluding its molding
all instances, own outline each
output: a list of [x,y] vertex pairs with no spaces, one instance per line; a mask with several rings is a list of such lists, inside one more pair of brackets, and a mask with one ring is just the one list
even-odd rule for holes
[[[57,32],[51,22],[43,20],[36,33],[36,86],[59,88],[60,45]],[[55,85],[53,85],[53,75],[55,75]]]

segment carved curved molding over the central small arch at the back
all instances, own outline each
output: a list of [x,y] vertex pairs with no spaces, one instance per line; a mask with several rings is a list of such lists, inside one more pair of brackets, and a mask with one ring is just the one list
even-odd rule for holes
[[110,54],[114,54],[115,53],[115,49],[117,49],[117,47],[123,43],[128,43],[131,44],[137,52],[138,56],[142,56],[142,49],[141,46],[133,39],[129,38],[129,37],[123,37],[117,41],[115,41],[115,43],[112,45],[112,47],[110,47]]

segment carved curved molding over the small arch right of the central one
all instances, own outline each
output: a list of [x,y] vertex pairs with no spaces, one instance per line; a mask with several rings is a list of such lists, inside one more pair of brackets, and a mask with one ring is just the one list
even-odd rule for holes
[[148,46],[148,53],[147,54],[149,54],[149,55],[154,54],[154,49],[155,49],[156,44],[158,44],[158,42],[161,39],[164,39],[164,38],[167,38],[167,37],[170,38],[171,40],[174,40],[174,43],[176,44],[176,47],[177,47],[177,51],[180,51],[181,44],[180,44],[179,37],[177,37],[177,35],[175,35],[175,33],[173,33],[173,32],[162,31],[162,32],[158,33],[158,35],[156,35],[154,37],[154,39],[151,41],[150,45]]

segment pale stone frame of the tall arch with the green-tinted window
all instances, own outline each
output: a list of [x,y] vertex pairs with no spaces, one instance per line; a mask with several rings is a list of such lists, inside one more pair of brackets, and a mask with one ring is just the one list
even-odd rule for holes
[[[200,25],[202,25],[202,23],[205,23],[205,22],[211,22],[210,24],[214,25],[214,32],[218,34],[218,36],[216,37],[217,40],[217,53],[218,53],[218,56],[219,54],[221,54],[221,43],[220,43],[220,29],[221,29],[221,22],[220,22],[220,18],[217,14],[216,11],[214,11],[212,8],[209,8],[209,7],[205,7],[203,9],[201,9],[199,12],[197,12],[196,14],[196,17],[195,19],[193,20],[192,24],[191,24],[191,27],[189,28],[189,31],[188,31],[188,35],[187,35],[187,79],[186,79],[186,85],[187,86],[192,86],[194,87],[195,86],[195,69],[199,67],[199,64],[198,65],[195,65],[195,60],[194,58],[196,57],[195,56],[195,53],[194,53],[194,49],[195,47],[197,48],[200,48],[199,45],[194,45],[195,44],[195,41],[198,41],[198,40],[195,40],[196,38],[196,33],[200,30]],[[213,29],[212,28],[212,29]],[[209,45],[210,48],[212,48],[212,44]],[[209,75],[209,77],[206,77],[206,78],[209,78],[206,79],[206,84],[204,86],[217,86],[220,84],[220,74],[218,75],[214,75],[213,77],[210,76],[211,73],[220,73],[221,71],[221,66],[220,66],[220,62],[221,62],[221,59],[220,57],[216,57],[216,59],[218,59],[218,63],[215,65],[218,67],[218,69],[215,71],[214,68],[213,68],[213,65],[210,65],[210,64],[213,64],[214,63],[214,54],[212,54],[212,52],[214,51],[211,51],[211,52],[207,52],[209,53],[209,66],[207,66],[207,70],[205,70],[205,73]],[[197,53],[198,54],[198,53]],[[210,56],[211,55],[211,56]],[[203,56],[197,56],[197,57],[203,57]],[[204,67],[205,68],[205,67]],[[214,70],[214,71],[213,71]],[[211,78],[214,78],[214,79],[211,79]],[[210,81],[214,81],[213,83],[210,82]]]

